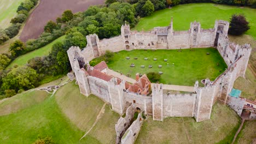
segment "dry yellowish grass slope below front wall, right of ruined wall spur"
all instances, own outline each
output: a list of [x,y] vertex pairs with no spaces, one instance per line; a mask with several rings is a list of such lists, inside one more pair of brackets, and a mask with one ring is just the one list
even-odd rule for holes
[[211,119],[196,122],[189,117],[168,117],[164,122],[150,117],[142,125],[135,143],[218,143],[232,140],[240,118],[228,106],[215,104]]

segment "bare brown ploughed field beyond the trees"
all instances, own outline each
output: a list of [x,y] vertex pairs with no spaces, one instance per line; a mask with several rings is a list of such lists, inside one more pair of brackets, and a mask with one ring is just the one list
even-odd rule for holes
[[104,4],[105,0],[40,0],[36,9],[31,13],[20,35],[22,41],[36,39],[44,31],[49,20],[55,21],[63,11],[70,9],[73,13],[84,11],[90,5]]

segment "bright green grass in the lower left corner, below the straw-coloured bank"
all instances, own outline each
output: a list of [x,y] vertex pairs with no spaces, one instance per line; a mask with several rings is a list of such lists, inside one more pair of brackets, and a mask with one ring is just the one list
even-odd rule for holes
[[[52,136],[57,143],[78,143],[84,134],[62,114],[54,97],[30,109],[1,116],[0,125],[0,143],[33,143],[38,135]],[[97,142],[93,138],[89,141]]]

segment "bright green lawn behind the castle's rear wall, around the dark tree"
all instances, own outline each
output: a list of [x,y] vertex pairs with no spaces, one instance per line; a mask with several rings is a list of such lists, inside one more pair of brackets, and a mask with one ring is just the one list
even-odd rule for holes
[[188,30],[190,22],[199,21],[202,28],[213,28],[215,20],[229,21],[232,14],[245,14],[250,22],[251,29],[246,34],[256,39],[256,9],[240,8],[229,5],[213,3],[181,4],[172,9],[159,10],[150,16],[139,20],[138,25],[133,28],[138,31],[148,31],[154,27],[170,25],[173,16],[173,28],[176,31]]

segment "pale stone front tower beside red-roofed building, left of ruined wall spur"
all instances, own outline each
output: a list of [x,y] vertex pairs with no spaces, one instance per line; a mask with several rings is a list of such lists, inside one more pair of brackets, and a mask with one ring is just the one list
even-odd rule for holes
[[109,97],[112,109],[119,114],[123,114],[125,109],[124,100],[125,81],[118,80],[116,77],[109,81]]

